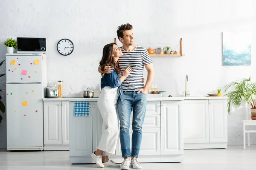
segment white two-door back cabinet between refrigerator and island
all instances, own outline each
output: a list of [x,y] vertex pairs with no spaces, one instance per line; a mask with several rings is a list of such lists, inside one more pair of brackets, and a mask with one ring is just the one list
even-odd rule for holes
[[69,102],[44,101],[44,150],[69,150]]

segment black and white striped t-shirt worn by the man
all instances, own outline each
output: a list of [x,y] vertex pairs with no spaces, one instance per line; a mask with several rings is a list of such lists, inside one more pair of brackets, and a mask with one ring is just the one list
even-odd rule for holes
[[152,62],[148,51],[137,45],[134,51],[125,51],[122,48],[122,53],[123,55],[118,59],[121,70],[124,71],[128,66],[131,66],[131,73],[122,82],[123,91],[139,91],[144,88],[144,65]]

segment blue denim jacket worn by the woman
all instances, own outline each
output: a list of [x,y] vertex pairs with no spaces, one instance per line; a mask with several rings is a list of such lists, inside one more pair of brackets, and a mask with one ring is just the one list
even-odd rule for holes
[[122,77],[122,73],[118,76],[116,73],[116,69],[114,69],[110,74],[104,74],[104,76],[100,79],[101,82],[101,88],[105,88],[107,86],[110,86],[111,88],[118,87],[118,94],[123,101],[124,93],[122,91],[122,85],[120,78]]

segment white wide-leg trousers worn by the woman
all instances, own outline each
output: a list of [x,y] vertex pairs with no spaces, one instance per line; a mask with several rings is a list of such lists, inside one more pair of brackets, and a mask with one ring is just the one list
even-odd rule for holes
[[119,126],[116,114],[116,102],[118,99],[118,88],[105,87],[102,89],[98,99],[99,111],[102,115],[102,136],[98,149],[103,150],[104,155],[113,156],[116,152]]

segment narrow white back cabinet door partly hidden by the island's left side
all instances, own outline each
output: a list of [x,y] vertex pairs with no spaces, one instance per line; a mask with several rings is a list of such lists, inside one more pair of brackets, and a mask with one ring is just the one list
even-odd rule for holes
[[62,101],[62,144],[69,144],[69,102]]

